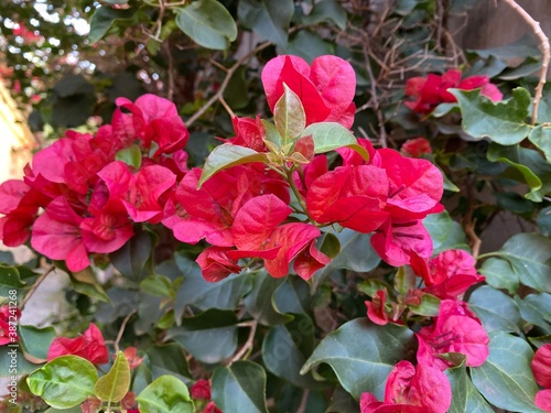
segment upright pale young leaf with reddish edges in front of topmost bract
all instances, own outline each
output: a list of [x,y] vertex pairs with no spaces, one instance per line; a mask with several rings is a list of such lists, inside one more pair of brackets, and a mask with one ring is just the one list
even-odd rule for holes
[[306,127],[306,113],[299,96],[283,84],[283,95],[273,108],[273,121],[283,144],[294,142]]

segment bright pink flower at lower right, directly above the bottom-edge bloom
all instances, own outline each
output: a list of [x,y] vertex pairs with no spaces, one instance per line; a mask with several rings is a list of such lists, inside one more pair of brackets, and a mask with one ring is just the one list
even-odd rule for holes
[[488,357],[488,335],[480,320],[462,301],[443,300],[434,324],[421,328],[417,336],[418,361],[441,370],[450,367],[446,360],[439,357],[447,352],[465,355],[469,367],[482,366]]

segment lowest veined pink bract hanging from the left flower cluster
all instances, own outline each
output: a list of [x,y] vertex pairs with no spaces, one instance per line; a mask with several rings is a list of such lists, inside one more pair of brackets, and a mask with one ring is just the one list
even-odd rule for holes
[[65,260],[71,271],[82,271],[90,263],[80,231],[83,220],[64,197],[57,197],[36,218],[31,244],[52,260]]

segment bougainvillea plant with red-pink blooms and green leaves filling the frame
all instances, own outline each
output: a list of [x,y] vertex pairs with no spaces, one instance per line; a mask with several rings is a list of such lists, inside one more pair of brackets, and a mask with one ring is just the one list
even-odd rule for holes
[[[90,37],[130,23],[168,36],[171,22],[202,47],[236,40],[233,10],[184,3],[152,13],[156,6],[107,1]],[[0,184],[0,239],[36,256],[0,264],[9,378],[0,407],[551,411],[544,100],[538,123],[528,89],[465,64],[409,73],[379,105],[386,88],[354,54],[299,56],[293,40],[296,54],[263,58],[271,43],[287,43],[258,24],[255,10],[276,10],[260,3],[237,11],[269,41],[251,54],[258,67],[238,76],[260,90],[255,105],[236,106],[244,90],[225,94],[239,64],[216,63],[227,77],[208,85],[212,101],[195,113],[156,94],[118,96],[109,121],[63,131],[21,180]],[[292,17],[293,4],[278,2],[279,13],[291,6]],[[402,13],[408,26],[400,8],[389,15]],[[304,10],[294,14],[301,23],[333,22],[345,35],[337,2]],[[25,42],[45,41],[24,22],[13,28]],[[377,52],[363,51],[367,61]],[[366,108],[377,139],[364,128]],[[220,127],[208,134],[210,123]],[[499,208],[536,222],[533,231],[482,250],[480,226]],[[69,309],[50,326],[20,323],[54,272]]]

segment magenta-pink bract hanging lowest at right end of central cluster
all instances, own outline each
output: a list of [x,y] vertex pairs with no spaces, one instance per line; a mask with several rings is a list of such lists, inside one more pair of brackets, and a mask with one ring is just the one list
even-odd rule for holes
[[371,237],[371,246],[392,267],[409,264],[412,256],[432,256],[432,239],[421,220],[389,219]]

